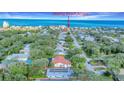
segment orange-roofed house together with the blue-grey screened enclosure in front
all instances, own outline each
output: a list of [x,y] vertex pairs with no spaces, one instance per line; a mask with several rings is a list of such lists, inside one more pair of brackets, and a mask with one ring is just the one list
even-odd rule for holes
[[51,79],[69,79],[73,75],[71,62],[64,58],[63,55],[57,55],[53,58],[54,67],[47,69],[47,77]]

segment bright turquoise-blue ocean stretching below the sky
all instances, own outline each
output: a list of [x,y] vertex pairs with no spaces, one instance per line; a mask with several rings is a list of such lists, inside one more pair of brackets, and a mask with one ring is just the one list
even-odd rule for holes
[[[67,20],[39,20],[39,19],[0,19],[0,27],[3,21],[8,21],[14,26],[58,26],[66,25]],[[70,20],[71,27],[120,27],[124,28],[124,21],[118,20]]]

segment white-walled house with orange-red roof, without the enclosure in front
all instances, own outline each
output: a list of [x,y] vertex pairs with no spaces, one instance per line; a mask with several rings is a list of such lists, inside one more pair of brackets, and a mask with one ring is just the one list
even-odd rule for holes
[[57,68],[71,67],[71,62],[65,59],[63,55],[58,55],[55,58],[53,58],[52,63],[54,64],[54,67],[57,67]]

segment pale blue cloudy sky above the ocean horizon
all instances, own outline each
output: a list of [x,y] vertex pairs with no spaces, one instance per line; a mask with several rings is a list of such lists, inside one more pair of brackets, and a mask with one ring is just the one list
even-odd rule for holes
[[[67,20],[65,12],[0,12],[0,19],[50,19]],[[66,12],[67,13],[67,12]],[[74,13],[74,12],[73,12]],[[80,12],[84,13],[84,12]],[[67,13],[68,14],[68,13]],[[70,15],[71,13],[69,13]],[[85,12],[85,15],[70,16],[71,20],[124,20],[124,12]]]

